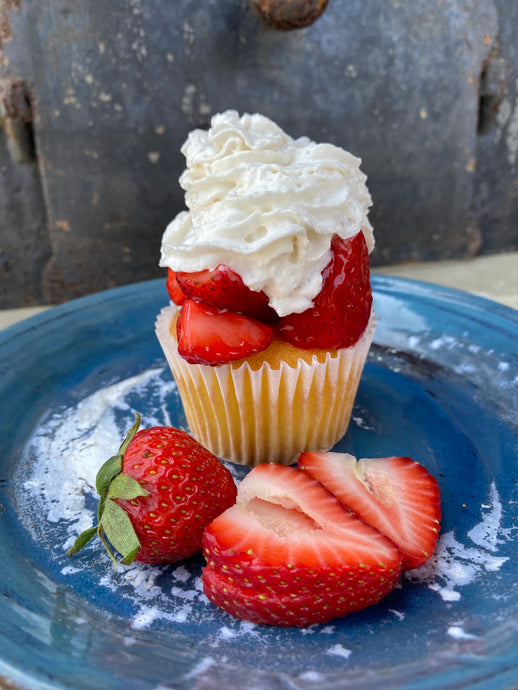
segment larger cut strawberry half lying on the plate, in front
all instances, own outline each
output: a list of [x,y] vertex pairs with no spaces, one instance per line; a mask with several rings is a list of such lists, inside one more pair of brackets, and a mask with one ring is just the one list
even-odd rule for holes
[[401,554],[295,467],[262,464],[205,530],[207,597],[238,618],[311,625],[378,602]]

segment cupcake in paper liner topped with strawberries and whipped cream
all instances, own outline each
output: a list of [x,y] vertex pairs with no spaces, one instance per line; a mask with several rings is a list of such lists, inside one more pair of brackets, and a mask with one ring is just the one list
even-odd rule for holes
[[157,336],[190,431],[241,465],[344,435],[375,329],[360,160],[229,110],[191,132]]

